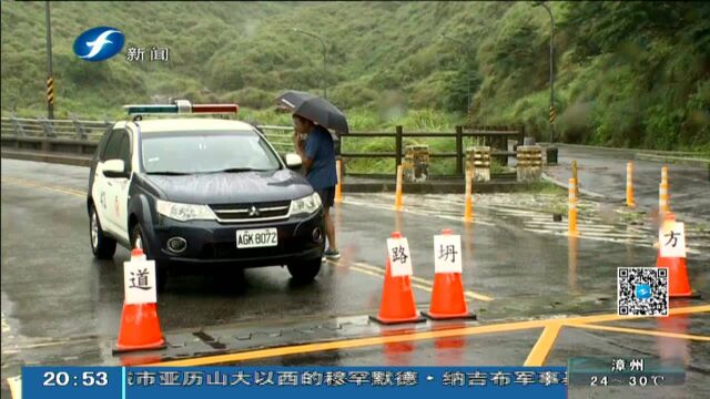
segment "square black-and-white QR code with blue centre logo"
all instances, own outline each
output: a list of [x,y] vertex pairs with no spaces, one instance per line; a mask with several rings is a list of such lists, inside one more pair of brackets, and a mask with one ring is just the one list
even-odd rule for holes
[[668,267],[617,269],[619,316],[668,316]]

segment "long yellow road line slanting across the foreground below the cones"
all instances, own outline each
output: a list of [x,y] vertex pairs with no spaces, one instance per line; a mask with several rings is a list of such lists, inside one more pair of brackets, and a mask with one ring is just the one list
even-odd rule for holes
[[[710,305],[676,308],[676,309],[671,309],[670,314],[683,315],[683,314],[696,314],[696,313],[702,313],[702,311],[710,311]],[[629,317],[629,316],[619,316],[616,314],[607,314],[607,315],[596,315],[596,316],[576,316],[576,317],[558,318],[558,319],[513,321],[513,323],[501,323],[501,324],[495,324],[495,325],[488,325],[488,326],[453,328],[447,330],[399,334],[399,335],[393,335],[387,337],[354,338],[354,339],[344,339],[344,340],[322,342],[322,344],[305,344],[305,345],[294,345],[294,346],[280,347],[280,348],[257,349],[257,350],[250,350],[250,351],[243,351],[237,354],[206,356],[201,358],[183,359],[183,360],[170,360],[170,361],[150,364],[146,366],[205,366],[205,365],[263,359],[263,358],[277,357],[277,356],[318,352],[324,350],[352,349],[352,348],[361,348],[361,347],[376,346],[376,345],[384,345],[384,344],[416,341],[416,340],[426,340],[426,339],[435,339],[435,338],[462,337],[462,336],[481,335],[481,334],[490,334],[490,332],[509,332],[509,331],[518,331],[518,330],[525,330],[525,329],[531,329],[531,328],[547,327],[550,325],[561,326],[562,324],[601,323],[601,321],[612,321],[612,320],[642,319],[648,317],[650,316]]]

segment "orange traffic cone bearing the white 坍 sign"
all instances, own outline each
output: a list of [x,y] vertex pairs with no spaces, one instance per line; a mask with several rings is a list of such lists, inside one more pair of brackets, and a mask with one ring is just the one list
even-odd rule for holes
[[[442,233],[448,235],[452,234],[452,231],[445,229]],[[460,273],[436,273],[434,275],[429,311],[423,314],[433,320],[476,319],[476,315],[469,313],[466,306]]]

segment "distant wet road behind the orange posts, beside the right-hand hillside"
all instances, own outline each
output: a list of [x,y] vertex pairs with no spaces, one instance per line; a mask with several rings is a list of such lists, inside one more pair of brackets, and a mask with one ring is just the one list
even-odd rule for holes
[[[635,160],[619,150],[559,147],[559,165],[547,173],[560,182],[571,177],[577,161],[579,188],[600,194],[606,201],[626,202],[626,164],[633,161],[633,191],[638,206],[658,212],[658,186],[663,163]],[[668,164],[670,208],[679,218],[710,224],[710,174],[707,166]]]

